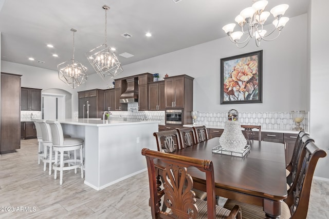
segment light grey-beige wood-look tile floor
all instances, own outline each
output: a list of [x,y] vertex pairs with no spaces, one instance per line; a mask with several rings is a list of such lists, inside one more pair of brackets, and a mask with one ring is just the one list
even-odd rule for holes
[[[0,156],[0,218],[151,218],[147,172],[96,191],[83,184],[80,169],[70,170],[60,186],[38,165],[37,150],[36,140],[24,140],[16,153]],[[307,218],[329,218],[329,182],[313,181]]]

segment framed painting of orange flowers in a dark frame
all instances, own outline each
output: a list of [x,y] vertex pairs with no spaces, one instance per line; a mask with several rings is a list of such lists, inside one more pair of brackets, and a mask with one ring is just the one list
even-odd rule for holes
[[221,104],[262,103],[263,50],[221,58]]

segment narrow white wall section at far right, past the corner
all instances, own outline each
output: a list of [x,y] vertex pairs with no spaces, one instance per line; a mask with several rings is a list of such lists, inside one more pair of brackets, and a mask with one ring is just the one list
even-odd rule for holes
[[[329,1],[312,0],[310,6],[310,131],[318,147],[328,153],[328,124],[326,115],[329,101],[329,90],[326,83],[329,81],[327,62],[327,35],[326,21],[323,14],[327,13]],[[318,162],[315,175],[329,178],[329,156]]]

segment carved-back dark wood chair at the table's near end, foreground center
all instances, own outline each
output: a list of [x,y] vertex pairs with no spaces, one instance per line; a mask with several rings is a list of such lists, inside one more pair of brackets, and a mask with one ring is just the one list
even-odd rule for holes
[[[232,210],[215,205],[215,183],[213,164],[208,160],[168,154],[143,148],[149,172],[150,202],[152,218],[241,218],[241,209],[234,206]],[[154,161],[160,161],[166,168],[162,171],[165,179],[161,190],[155,180]],[[207,201],[195,198],[192,191],[193,178],[188,168],[194,167],[206,174]],[[184,185],[187,185],[184,189]],[[159,190],[160,189],[160,190]],[[169,211],[159,208],[159,195],[164,197],[164,204]]]

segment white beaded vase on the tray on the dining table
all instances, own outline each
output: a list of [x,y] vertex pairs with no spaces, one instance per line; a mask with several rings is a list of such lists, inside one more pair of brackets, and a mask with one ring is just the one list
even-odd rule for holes
[[237,121],[226,121],[223,134],[220,137],[220,144],[223,149],[230,151],[242,150],[247,140],[242,133],[241,124]]

